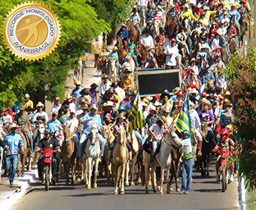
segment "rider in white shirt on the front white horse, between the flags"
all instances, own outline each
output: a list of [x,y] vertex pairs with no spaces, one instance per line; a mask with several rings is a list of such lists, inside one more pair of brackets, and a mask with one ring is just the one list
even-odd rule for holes
[[154,158],[154,155],[157,151],[157,142],[159,142],[161,139],[163,139],[163,132],[166,130],[166,117],[161,116],[158,118],[157,122],[152,124],[151,127],[149,127],[149,132],[151,133],[152,138],[152,152],[151,152],[151,158]]

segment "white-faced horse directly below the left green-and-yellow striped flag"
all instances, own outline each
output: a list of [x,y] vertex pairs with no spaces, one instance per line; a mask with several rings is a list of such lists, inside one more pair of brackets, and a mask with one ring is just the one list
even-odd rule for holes
[[129,185],[129,181],[128,181],[129,180],[129,173],[128,172],[130,172],[131,186],[135,186],[135,184],[134,184],[134,168],[135,168],[135,164],[137,162],[137,157],[139,155],[139,142],[138,142],[138,139],[136,138],[136,134],[135,134],[134,130],[133,130],[132,133],[130,133],[130,145],[132,146],[133,159],[130,161],[130,167],[129,167],[128,163],[126,165],[126,181],[125,181],[125,184]]

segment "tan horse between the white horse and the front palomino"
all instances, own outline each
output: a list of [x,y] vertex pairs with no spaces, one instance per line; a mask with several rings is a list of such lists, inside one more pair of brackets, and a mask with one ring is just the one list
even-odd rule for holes
[[[106,183],[114,184],[114,177],[111,174],[111,164],[107,166],[108,163],[108,145],[114,141],[114,134],[111,132],[110,127],[108,125],[102,126],[102,136],[105,139],[105,149],[104,149],[104,159],[105,159],[105,176],[107,177]],[[111,178],[111,180],[110,180]]]

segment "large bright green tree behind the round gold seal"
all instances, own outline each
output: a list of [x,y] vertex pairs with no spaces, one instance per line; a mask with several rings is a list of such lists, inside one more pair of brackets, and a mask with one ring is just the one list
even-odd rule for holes
[[[1,20],[20,2],[0,1]],[[101,31],[107,34],[111,31],[87,1],[47,0],[41,3],[52,8],[59,17],[62,27],[59,46],[47,58],[28,62],[12,55],[0,40],[0,107],[13,104],[26,92],[35,101],[44,100],[45,95],[50,101],[56,95],[62,97],[69,70],[78,65],[79,56],[90,48],[90,40]],[[49,90],[44,88],[46,85]]]

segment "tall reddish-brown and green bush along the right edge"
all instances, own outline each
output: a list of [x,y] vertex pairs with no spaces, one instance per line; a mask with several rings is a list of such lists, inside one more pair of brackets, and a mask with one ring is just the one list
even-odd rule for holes
[[256,187],[256,51],[248,49],[244,56],[231,55],[225,74],[233,103],[234,124],[241,140],[239,173],[245,177],[245,187]]

